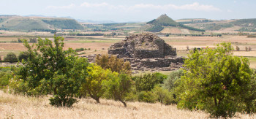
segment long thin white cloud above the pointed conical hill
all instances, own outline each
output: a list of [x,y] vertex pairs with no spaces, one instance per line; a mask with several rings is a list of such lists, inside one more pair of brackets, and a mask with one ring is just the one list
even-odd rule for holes
[[135,4],[129,9],[184,9],[184,10],[195,10],[195,11],[221,11],[221,9],[212,5],[199,4],[197,2],[193,4],[184,4],[181,6],[175,4],[167,5],[154,5],[154,4]]

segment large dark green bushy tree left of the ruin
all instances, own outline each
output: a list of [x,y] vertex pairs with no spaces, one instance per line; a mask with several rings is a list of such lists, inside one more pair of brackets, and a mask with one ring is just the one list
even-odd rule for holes
[[50,104],[72,106],[76,101],[73,97],[86,79],[88,61],[75,56],[71,48],[63,50],[63,41],[62,37],[54,37],[54,43],[39,38],[37,44],[29,45],[24,40],[29,58],[11,81],[13,90],[29,95],[53,94]]

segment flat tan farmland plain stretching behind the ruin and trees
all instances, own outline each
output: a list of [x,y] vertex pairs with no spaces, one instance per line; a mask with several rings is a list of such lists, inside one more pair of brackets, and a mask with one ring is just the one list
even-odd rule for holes
[[[47,32],[36,32],[36,33],[20,33],[22,35],[14,35],[16,32],[8,32],[7,34],[2,34],[0,36],[0,56],[3,59],[7,53],[13,52],[18,55],[20,51],[25,51],[26,47],[23,43],[12,42],[13,40],[29,39],[31,37],[42,37],[50,38],[53,34],[48,34]],[[83,55],[89,54],[101,54],[108,53],[108,48],[116,42],[121,41],[126,36],[118,37],[103,37],[103,36],[64,36],[64,49],[67,50],[69,47],[72,49],[77,48],[87,48],[91,50],[83,51]],[[256,38],[248,38],[246,36],[238,35],[223,35],[222,37],[177,37],[176,35],[171,35],[170,37],[161,37],[169,45],[176,47],[178,56],[187,56],[189,49],[194,47],[215,47],[221,42],[231,42],[235,50],[234,55],[244,56],[249,58],[256,57]],[[52,38],[50,38],[52,39]],[[239,51],[236,51],[236,46],[240,47]],[[246,51],[245,47],[251,47],[252,51]],[[251,60],[252,68],[256,68],[256,61]]]

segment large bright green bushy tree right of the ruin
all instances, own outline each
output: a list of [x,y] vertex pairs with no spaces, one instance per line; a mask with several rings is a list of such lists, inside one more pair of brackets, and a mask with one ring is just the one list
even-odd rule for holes
[[[213,117],[233,117],[244,105],[251,82],[249,60],[232,55],[231,43],[190,51],[178,80],[178,108],[206,110]],[[245,106],[246,107],[246,106]]]

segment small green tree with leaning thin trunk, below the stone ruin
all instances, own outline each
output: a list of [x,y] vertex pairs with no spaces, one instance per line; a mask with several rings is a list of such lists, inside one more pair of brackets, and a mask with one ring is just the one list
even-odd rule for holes
[[118,75],[118,77],[105,80],[104,85],[108,96],[115,100],[121,101],[121,103],[124,104],[124,107],[127,107],[127,103],[124,101],[124,99],[132,87],[132,80],[128,74],[121,73]]

